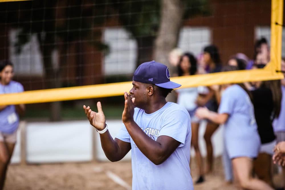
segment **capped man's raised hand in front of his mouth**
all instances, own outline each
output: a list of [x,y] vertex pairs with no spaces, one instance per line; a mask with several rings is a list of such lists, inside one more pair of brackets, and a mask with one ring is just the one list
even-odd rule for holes
[[134,101],[135,98],[131,98],[127,92],[125,92],[125,108],[122,115],[123,123],[131,122],[134,120],[135,106]]

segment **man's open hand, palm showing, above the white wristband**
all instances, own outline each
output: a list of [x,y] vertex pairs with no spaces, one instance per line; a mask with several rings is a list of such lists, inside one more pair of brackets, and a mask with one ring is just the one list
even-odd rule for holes
[[98,113],[92,111],[89,106],[86,107],[84,105],[83,109],[85,110],[85,114],[93,127],[99,131],[103,130],[106,127],[106,119],[102,110],[101,102],[97,102]]

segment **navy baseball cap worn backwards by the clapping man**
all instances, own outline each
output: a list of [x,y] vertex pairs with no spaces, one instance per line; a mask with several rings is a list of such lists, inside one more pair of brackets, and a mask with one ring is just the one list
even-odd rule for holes
[[170,81],[169,69],[166,65],[155,61],[141,64],[134,73],[133,81],[155,84],[168,89],[181,86],[181,84]]

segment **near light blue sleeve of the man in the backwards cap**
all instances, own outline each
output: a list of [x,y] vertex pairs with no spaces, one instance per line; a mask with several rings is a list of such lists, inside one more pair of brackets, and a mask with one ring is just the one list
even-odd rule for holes
[[182,110],[169,113],[162,123],[158,136],[170,136],[181,142],[178,147],[184,146],[186,136],[191,131],[190,117],[187,114]]

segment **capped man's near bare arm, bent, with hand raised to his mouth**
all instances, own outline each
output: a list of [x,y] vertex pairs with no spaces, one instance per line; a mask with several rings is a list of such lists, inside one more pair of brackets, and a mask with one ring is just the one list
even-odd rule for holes
[[134,98],[125,93],[125,109],[122,120],[130,136],[139,150],[155,165],[162,164],[181,144],[170,136],[159,136],[157,140],[152,140],[134,121]]

